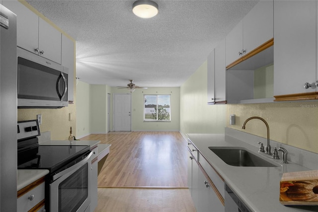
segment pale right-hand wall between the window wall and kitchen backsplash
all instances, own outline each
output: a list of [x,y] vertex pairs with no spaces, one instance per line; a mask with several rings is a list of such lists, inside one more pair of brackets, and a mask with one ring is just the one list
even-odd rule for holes
[[180,87],[180,132],[224,133],[226,105],[207,105],[207,61]]

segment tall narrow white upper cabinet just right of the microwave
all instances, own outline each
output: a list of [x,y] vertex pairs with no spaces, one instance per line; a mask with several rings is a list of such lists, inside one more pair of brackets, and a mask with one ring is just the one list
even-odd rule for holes
[[74,42],[62,34],[62,58],[61,64],[69,69],[68,74],[68,98],[69,102],[74,101]]

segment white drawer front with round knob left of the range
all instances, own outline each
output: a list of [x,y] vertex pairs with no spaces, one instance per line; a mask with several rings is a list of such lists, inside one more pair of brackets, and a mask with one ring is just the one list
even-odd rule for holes
[[27,212],[44,200],[45,183],[31,188],[28,192],[17,199],[17,211]]

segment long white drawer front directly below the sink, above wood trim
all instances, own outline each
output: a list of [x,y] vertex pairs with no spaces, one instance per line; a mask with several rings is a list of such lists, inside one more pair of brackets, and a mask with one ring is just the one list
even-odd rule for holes
[[208,174],[212,182],[214,183],[215,187],[220,192],[221,196],[225,197],[225,190],[224,190],[224,180],[219,176],[218,173],[216,173],[211,165],[206,161],[206,159],[201,155],[201,153],[198,153],[198,162],[201,164],[205,172]]

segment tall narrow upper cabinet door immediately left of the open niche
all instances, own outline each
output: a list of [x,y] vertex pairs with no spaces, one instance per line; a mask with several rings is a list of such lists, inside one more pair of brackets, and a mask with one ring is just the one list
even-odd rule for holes
[[214,49],[215,51],[215,102],[225,102],[226,99],[226,70],[225,70],[225,39]]

